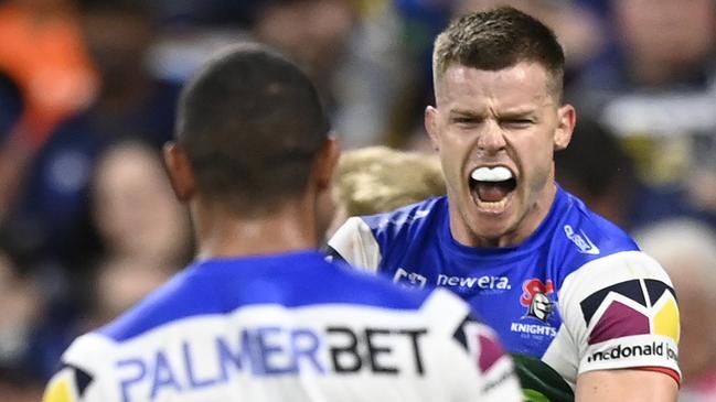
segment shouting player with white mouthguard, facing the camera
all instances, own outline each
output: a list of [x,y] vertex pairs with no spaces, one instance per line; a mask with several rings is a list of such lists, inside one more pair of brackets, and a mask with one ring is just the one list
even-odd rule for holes
[[576,121],[554,33],[512,8],[468,14],[437,37],[432,65],[425,124],[447,197],[349,219],[334,256],[469,301],[524,360],[535,401],[674,401],[669,276],[554,180]]

